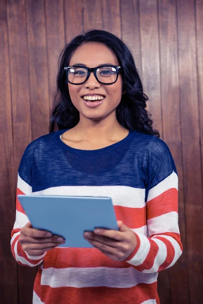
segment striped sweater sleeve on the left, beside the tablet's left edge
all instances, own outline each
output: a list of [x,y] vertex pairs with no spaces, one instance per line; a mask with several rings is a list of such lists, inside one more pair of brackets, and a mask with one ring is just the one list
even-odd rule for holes
[[25,152],[22,156],[19,170],[18,170],[18,180],[17,180],[17,194],[16,194],[16,219],[14,223],[13,230],[11,232],[11,251],[14,258],[20,265],[35,267],[43,261],[46,252],[40,256],[30,256],[22,249],[21,244],[18,239],[20,236],[21,228],[29,221],[26,216],[19,200],[18,195],[29,195],[32,194],[32,180],[31,180],[31,170],[32,170],[32,146],[31,144],[27,146]]

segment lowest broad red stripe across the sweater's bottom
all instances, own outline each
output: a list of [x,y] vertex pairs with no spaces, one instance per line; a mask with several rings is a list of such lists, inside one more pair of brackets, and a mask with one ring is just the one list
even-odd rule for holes
[[[131,288],[52,288],[50,286],[41,285],[41,272],[40,269],[35,280],[34,290],[45,304],[140,304],[149,299],[158,299],[157,282],[152,284],[138,284]],[[157,301],[157,303],[159,303],[159,301]]]

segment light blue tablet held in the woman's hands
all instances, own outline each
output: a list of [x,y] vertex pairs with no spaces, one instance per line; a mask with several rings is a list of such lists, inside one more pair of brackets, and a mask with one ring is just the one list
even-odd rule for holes
[[62,236],[58,247],[93,248],[84,231],[96,227],[119,230],[111,198],[18,195],[33,228]]

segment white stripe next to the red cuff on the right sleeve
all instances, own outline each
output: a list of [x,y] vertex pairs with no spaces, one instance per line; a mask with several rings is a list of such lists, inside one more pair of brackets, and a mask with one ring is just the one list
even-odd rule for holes
[[140,247],[138,251],[129,261],[127,261],[129,264],[132,264],[134,266],[141,265],[145,261],[151,247],[150,242],[146,236],[139,235],[139,239]]

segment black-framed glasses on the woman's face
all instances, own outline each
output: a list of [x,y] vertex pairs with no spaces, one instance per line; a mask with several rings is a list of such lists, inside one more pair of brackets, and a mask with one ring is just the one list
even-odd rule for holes
[[67,81],[73,85],[84,84],[91,72],[100,84],[112,85],[117,81],[120,69],[121,66],[117,65],[100,65],[92,68],[82,65],[64,67]]

